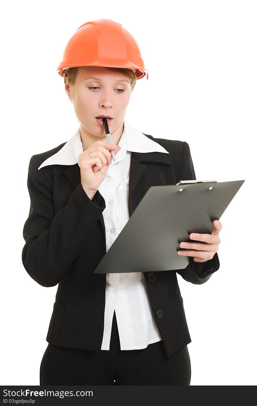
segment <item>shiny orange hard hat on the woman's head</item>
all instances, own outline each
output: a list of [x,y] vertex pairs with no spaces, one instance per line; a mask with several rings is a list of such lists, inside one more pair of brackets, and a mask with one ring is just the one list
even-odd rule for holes
[[76,66],[132,69],[138,79],[147,74],[148,80],[149,69],[144,66],[135,39],[121,24],[109,19],[89,21],[73,34],[57,71],[64,76],[68,68]]

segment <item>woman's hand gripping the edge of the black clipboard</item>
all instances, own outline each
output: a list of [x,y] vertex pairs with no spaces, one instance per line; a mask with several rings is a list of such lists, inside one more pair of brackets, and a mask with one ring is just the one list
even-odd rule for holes
[[212,222],[214,230],[212,234],[199,234],[191,233],[189,237],[192,240],[201,242],[181,242],[179,246],[181,248],[191,248],[178,251],[178,255],[188,255],[194,257],[194,262],[206,262],[214,257],[214,254],[218,251],[218,245],[220,244],[219,233],[222,229],[222,224],[219,220]]

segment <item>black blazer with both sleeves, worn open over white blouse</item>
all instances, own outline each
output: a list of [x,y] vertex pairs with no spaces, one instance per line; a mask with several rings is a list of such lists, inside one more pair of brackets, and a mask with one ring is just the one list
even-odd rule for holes
[[[145,135],[169,154],[132,152],[130,216],[151,186],[196,179],[188,143]],[[48,343],[99,352],[104,333],[106,274],[94,274],[94,270],[106,254],[102,215],[106,205],[98,190],[93,200],[87,196],[78,164],[49,165],[38,170],[63,145],[30,159],[30,211],[23,229],[26,244],[22,263],[41,286],[58,284]],[[217,253],[204,263],[189,259],[185,269],[143,272],[167,357],[191,342],[177,273],[200,285],[220,266]]]

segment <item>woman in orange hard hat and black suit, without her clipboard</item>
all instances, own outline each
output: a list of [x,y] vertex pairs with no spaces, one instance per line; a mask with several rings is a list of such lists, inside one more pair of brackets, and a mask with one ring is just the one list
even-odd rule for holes
[[[30,159],[23,231],[28,274],[42,286],[58,284],[40,384],[189,385],[191,338],[176,272],[94,274],[149,187],[195,179],[189,146],[124,121],[146,69],[121,24],[84,24],[63,59],[58,73],[80,128]],[[112,144],[97,119],[106,116]],[[219,268],[222,225],[214,226],[181,250],[191,260],[177,273],[187,281],[205,283]]]

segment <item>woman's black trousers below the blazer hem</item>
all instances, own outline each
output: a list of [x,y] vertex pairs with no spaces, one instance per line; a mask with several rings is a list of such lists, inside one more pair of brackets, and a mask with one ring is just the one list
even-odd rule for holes
[[48,344],[40,365],[40,385],[190,385],[190,380],[187,346],[169,358],[162,340],[142,350],[121,350],[115,311],[109,351]]

